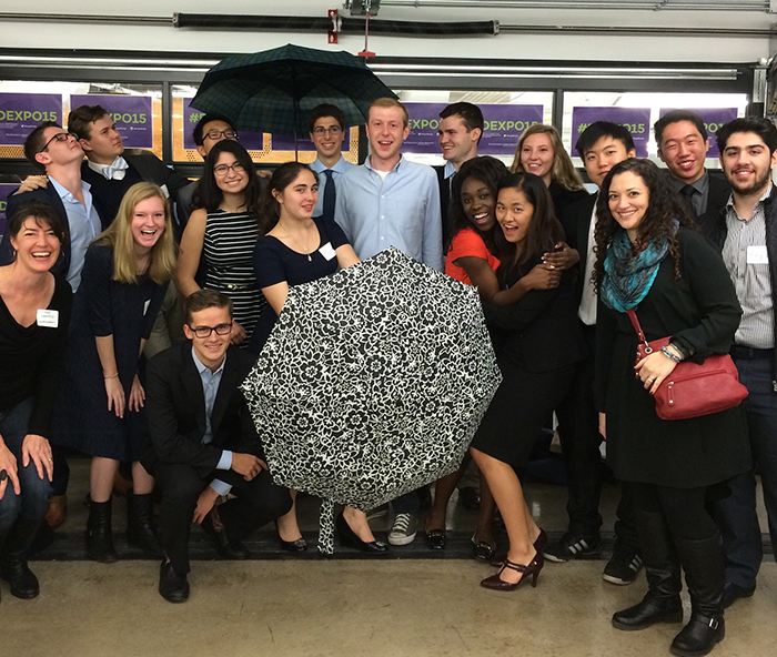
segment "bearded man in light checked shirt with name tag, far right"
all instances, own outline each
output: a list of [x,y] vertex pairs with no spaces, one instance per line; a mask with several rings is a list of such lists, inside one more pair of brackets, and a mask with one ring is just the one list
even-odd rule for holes
[[[760,471],[773,550],[777,547],[777,129],[763,118],[735,119],[717,132],[720,165],[731,185],[723,208],[699,219],[720,250],[743,307],[731,357],[747,386],[743,402],[753,459]],[[717,511],[726,557],[723,606],[749,597],[764,556],[751,472],[728,482]],[[777,554],[777,553],[776,553]]]

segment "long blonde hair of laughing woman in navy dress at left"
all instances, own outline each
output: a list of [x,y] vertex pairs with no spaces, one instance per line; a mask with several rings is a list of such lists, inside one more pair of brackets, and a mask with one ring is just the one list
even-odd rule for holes
[[158,198],[164,208],[164,231],[151,247],[149,259],[149,279],[158,285],[167,283],[175,274],[175,242],[170,215],[170,203],[162,189],[150,182],[133,184],[121,200],[119,213],[113,223],[100,233],[94,242],[105,244],[113,250],[113,280],[121,283],[138,282],[134,240],[132,239],[132,219],[138,203]]

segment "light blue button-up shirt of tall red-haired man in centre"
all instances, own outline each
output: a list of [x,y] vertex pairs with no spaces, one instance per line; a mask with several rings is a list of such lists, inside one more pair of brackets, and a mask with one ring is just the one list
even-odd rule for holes
[[443,271],[440,186],[426,164],[403,156],[385,180],[370,158],[349,169],[337,188],[334,220],[362,260],[395,246]]

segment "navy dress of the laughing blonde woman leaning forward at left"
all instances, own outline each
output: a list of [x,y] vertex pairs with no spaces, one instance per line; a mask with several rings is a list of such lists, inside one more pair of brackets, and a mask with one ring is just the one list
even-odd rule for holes
[[58,397],[53,441],[91,456],[137,461],[144,411],[108,411],[108,396],[95,336],[113,335],[119,381],[129,400],[135,373],[142,375],[140,343],[148,338],[168,284],[141,277],[113,281],[113,251],[92,244],[87,251],[81,285],[73,303],[73,323]]

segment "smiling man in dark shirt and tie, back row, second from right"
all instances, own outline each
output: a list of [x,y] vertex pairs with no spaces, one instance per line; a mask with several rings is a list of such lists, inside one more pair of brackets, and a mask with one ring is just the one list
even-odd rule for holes
[[702,117],[688,110],[673,110],[656,121],[653,131],[658,156],[669,169],[672,186],[693,216],[723,208],[731,189],[725,176],[704,168],[709,137]]

